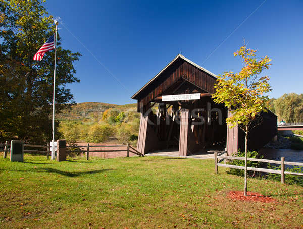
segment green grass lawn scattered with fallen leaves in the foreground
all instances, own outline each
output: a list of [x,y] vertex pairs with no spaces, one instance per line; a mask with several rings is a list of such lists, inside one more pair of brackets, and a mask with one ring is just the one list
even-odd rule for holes
[[277,202],[233,201],[243,178],[214,160],[25,155],[0,159],[0,228],[302,228],[303,187],[248,179]]

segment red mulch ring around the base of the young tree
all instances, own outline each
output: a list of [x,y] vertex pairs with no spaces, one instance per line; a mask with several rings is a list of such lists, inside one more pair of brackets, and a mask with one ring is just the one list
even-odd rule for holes
[[243,191],[230,191],[228,193],[228,197],[233,200],[244,200],[244,201],[251,201],[251,202],[263,202],[269,203],[276,201],[276,199],[271,198],[269,196],[263,196],[261,193],[257,192],[247,192],[247,195],[243,195]]

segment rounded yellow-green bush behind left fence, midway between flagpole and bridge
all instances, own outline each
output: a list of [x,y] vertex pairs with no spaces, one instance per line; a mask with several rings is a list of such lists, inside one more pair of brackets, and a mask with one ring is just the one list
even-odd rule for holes
[[100,143],[108,140],[114,134],[114,129],[109,125],[94,124],[90,127],[87,141]]

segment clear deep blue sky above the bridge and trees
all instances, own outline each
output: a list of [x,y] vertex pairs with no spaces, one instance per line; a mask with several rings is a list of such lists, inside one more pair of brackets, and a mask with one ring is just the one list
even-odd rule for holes
[[[82,57],[76,102],[134,103],[130,97],[180,52],[215,74],[239,71],[243,44],[268,55],[270,97],[303,93],[303,1],[48,0],[61,18],[62,46]],[[258,8],[259,7],[259,8]],[[83,45],[82,45],[83,44]]]

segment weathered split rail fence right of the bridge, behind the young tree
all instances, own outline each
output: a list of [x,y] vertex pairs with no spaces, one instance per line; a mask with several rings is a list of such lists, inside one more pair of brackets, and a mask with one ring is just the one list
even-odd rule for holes
[[[226,153],[226,152],[224,152]],[[218,166],[220,167],[227,167],[227,168],[235,168],[235,169],[242,169],[244,170],[244,166],[238,166],[238,165],[232,165],[232,164],[221,164],[221,162],[225,159],[227,160],[245,160],[245,157],[233,157],[233,156],[224,156],[220,155],[218,156],[218,153],[214,154],[215,157],[215,173],[218,173]],[[219,159],[219,161],[218,161]],[[265,163],[271,163],[271,164],[280,164],[281,170],[276,169],[269,169],[269,168],[255,168],[255,167],[247,167],[247,170],[249,171],[260,171],[263,173],[272,173],[272,174],[281,174],[281,183],[285,183],[285,174],[290,175],[298,175],[303,176],[303,173],[296,173],[292,171],[285,171],[285,165],[292,165],[292,166],[303,166],[303,163],[301,162],[288,162],[284,161],[285,158],[281,157],[281,160],[268,160],[268,159],[257,159],[257,158],[247,158],[247,161],[258,161],[258,162],[265,162]]]

